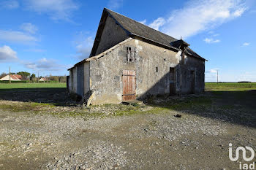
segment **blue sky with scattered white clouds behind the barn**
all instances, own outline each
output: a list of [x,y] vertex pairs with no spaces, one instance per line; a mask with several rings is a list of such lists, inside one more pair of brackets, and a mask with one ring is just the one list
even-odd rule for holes
[[0,72],[69,74],[87,58],[108,7],[185,39],[206,58],[206,81],[256,82],[255,0],[1,0]]

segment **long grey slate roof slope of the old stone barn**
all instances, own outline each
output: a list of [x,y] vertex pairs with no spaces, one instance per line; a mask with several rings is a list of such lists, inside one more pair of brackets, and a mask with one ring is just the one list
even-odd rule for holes
[[[146,25],[143,25],[142,23],[139,23],[138,21],[132,20],[131,18],[127,18],[124,15],[118,14],[116,12],[111,11],[110,9],[104,9],[108,14],[116,20],[116,22],[124,28],[125,31],[127,31],[127,34],[129,36],[140,36],[145,39],[149,39],[153,42],[157,42],[159,44],[165,45],[167,47],[174,48],[178,50],[176,47],[176,42],[180,43],[181,41],[184,42],[184,40],[178,40],[173,38],[172,36],[168,36],[167,34],[164,34],[160,31],[157,31],[153,28],[150,28]],[[184,42],[187,44],[187,42]],[[189,44],[187,44],[189,45]],[[193,50],[190,48],[187,48],[187,52],[189,55],[194,56],[195,58],[200,58],[203,60],[206,60],[200,55],[197,55]]]

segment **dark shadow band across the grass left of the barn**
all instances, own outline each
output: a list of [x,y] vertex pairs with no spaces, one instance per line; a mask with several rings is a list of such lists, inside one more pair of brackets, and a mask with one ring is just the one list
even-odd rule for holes
[[67,106],[70,98],[67,95],[67,88],[17,88],[0,89],[0,100]]

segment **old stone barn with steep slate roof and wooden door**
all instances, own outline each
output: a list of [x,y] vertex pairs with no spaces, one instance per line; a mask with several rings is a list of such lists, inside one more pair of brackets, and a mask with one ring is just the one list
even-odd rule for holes
[[182,39],[104,9],[89,58],[68,69],[69,92],[80,96],[94,92],[91,104],[203,93],[206,59],[188,46]]

